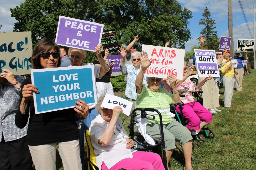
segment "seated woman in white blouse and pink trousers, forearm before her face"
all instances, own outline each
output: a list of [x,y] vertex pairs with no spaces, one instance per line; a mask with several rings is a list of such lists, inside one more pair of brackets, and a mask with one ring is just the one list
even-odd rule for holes
[[158,154],[131,149],[134,141],[129,139],[118,117],[123,111],[122,108],[102,108],[104,97],[102,95],[98,100],[96,109],[100,114],[91,122],[89,128],[99,169],[164,169]]

